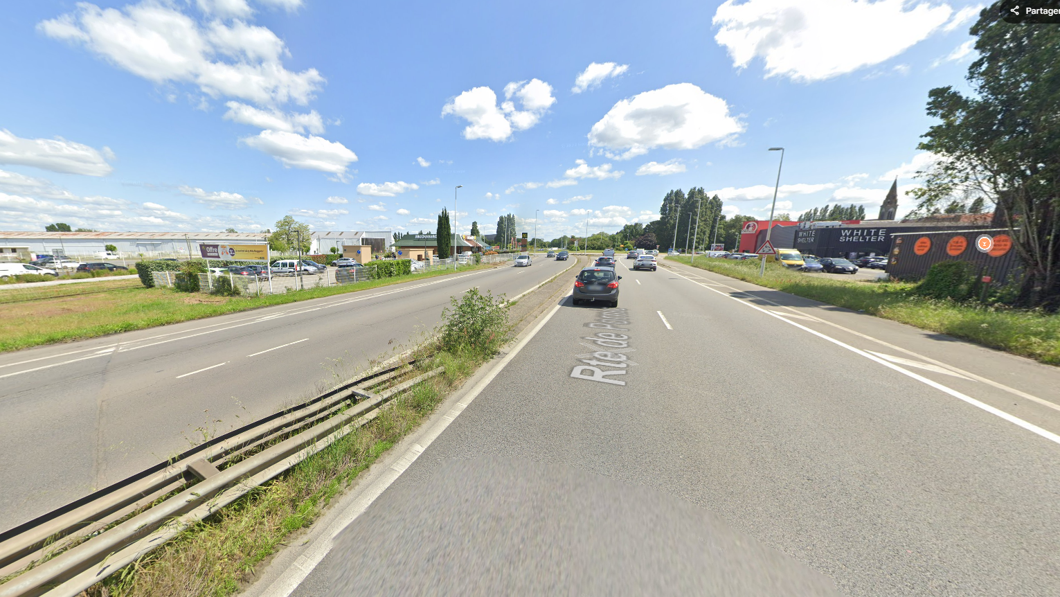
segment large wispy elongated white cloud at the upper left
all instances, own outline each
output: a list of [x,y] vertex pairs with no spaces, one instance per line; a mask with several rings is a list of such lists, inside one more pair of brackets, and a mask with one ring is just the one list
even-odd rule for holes
[[169,3],[148,0],[119,11],[84,2],[37,28],[49,37],[84,45],[143,78],[191,83],[211,98],[306,104],[324,82],[316,69],[284,68],[282,58],[289,52],[270,30],[240,19],[199,23]]

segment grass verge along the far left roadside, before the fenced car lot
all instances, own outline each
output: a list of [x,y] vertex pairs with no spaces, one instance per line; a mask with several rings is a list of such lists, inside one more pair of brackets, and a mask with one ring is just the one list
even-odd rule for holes
[[[105,293],[76,288],[83,284],[4,291],[0,294],[0,304],[3,304],[3,309],[0,309],[0,352],[143,330],[495,266],[494,264],[467,265],[456,271],[441,270],[395,276],[262,297],[178,293],[170,288],[131,285],[127,280],[113,282],[116,285],[126,287],[110,288]],[[98,288],[94,283],[85,285]]]

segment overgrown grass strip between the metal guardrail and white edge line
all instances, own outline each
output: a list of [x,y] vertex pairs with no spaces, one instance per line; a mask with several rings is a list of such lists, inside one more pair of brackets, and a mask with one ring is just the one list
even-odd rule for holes
[[[90,597],[223,597],[236,593],[263,560],[295,531],[312,524],[322,509],[358,474],[402,437],[416,429],[453,389],[460,386],[499,344],[509,339],[507,306],[500,299],[462,299],[455,311],[487,306],[483,323],[446,319],[436,337],[476,330],[470,344],[442,350],[435,339],[420,349],[418,372],[439,366],[441,375],[425,380],[381,409],[379,415],[266,486],[187,529],[165,546],[91,587]],[[500,310],[504,320],[493,315]]]

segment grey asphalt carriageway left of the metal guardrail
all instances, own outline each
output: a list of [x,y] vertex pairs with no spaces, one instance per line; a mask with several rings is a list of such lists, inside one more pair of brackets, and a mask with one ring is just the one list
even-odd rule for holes
[[352,377],[472,286],[518,295],[538,258],[0,355],[0,531]]

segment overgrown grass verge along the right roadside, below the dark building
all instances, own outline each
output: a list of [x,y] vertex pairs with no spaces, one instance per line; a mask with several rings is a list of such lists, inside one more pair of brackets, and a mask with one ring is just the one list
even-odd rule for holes
[[[668,257],[689,265],[690,258]],[[847,282],[767,263],[697,257],[694,267],[1060,365],[1060,315],[917,296],[916,284]]]

